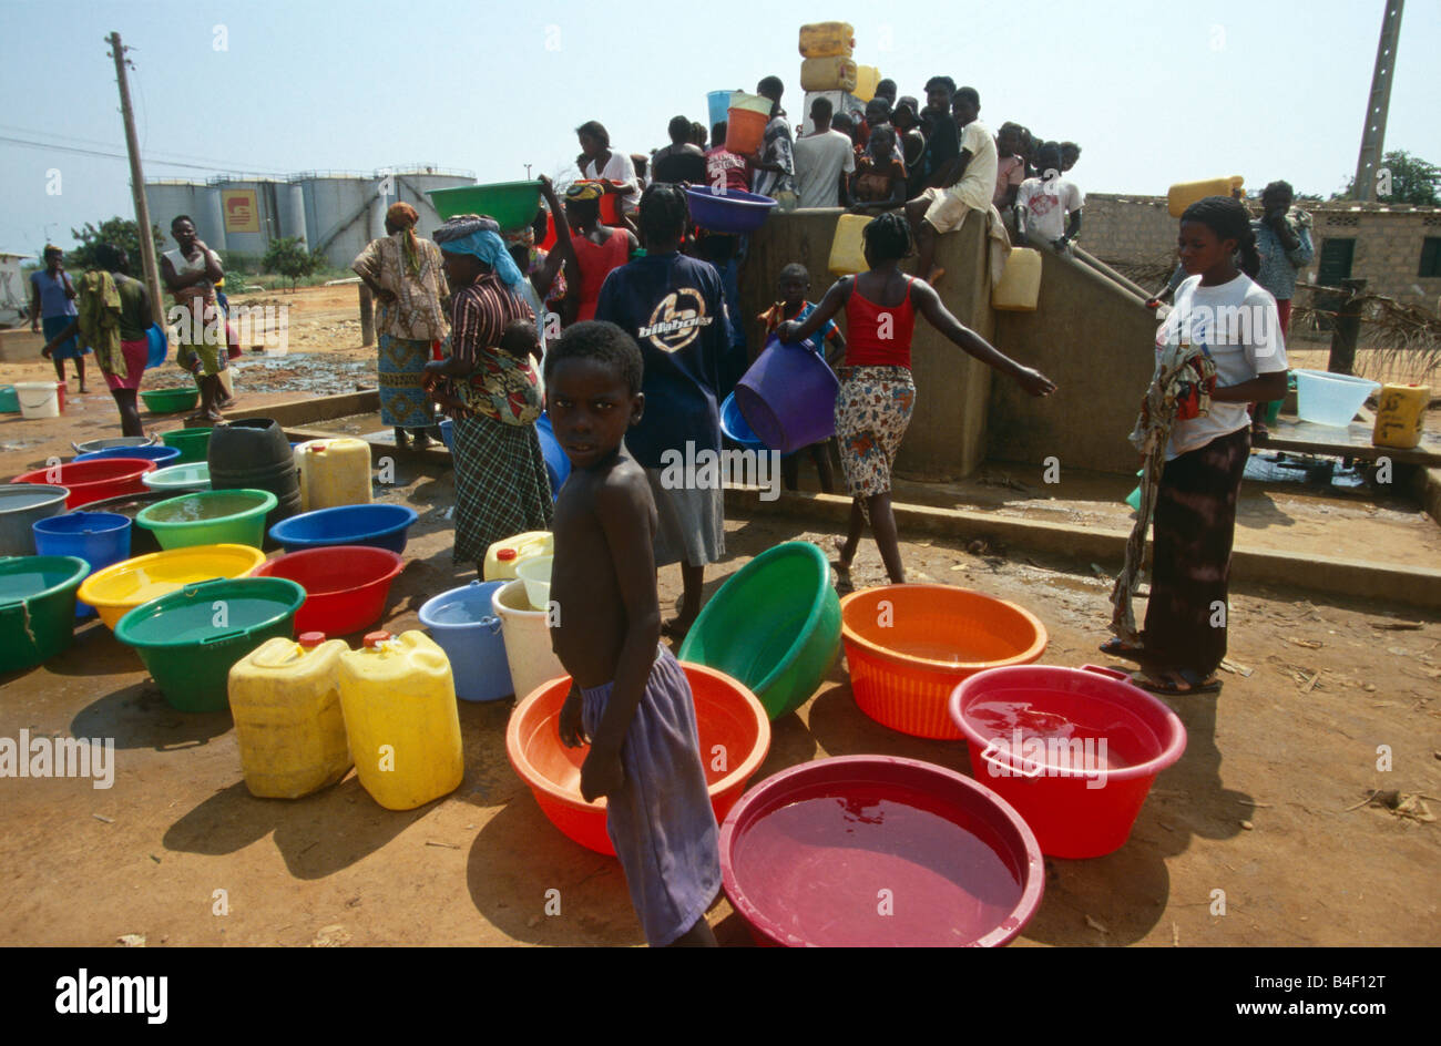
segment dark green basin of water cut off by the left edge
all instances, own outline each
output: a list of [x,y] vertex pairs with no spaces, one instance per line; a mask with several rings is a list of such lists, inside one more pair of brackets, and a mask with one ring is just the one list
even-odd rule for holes
[[33,669],[71,645],[86,573],[78,556],[0,559],[0,673]]

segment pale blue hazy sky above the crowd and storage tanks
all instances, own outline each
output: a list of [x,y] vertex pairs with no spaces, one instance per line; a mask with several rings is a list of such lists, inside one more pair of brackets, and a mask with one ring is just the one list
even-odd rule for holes
[[[902,94],[948,73],[980,91],[993,128],[1016,120],[1079,141],[1074,174],[1087,190],[1160,195],[1173,182],[1242,174],[1252,189],[1285,177],[1329,195],[1356,167],[1382,12],[1382,0],[4,0],[0,249],[37,251],[48,236],[69,246],[72,226],[133,213],[124,160],[55,148],[124,153],[110,30],[134,48],[150,179],[408,161],[483,182],[525,177],[526,163],[555,174],[572,163],[572,128],[585,120],[604,122],[617,147],[648,151],[672,115],[705,120],[708,91],[754,89],[767,73],[785,81],[798,117],[797,30],[844,19],[856,59]],[[1386,147],[1441,163],[1441,76],[1427,72],[1437,55],[1435,0],[1412,0]],[[59,195],[46,192],[52,170]]]

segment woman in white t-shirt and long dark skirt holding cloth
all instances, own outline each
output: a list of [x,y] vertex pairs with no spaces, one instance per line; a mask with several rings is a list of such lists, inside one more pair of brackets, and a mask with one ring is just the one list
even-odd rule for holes
[[[1141,666],[1133,677],[1137,684],[1169,694],[1221,689],[1215,673],[1226,656],[1236,497],[1251,455],[1246,403],[1281,399],[1287,370],[1275,300],[1249,275],[1259,256],[1245,205],[1225,196],[1193,203],[1182,215],[1179,242],[1189,278],[1157,331],[1157,376],[1148,396],[1148,405],[1170,403],[1157,412],[1159,424],[1143,411],[1133,437],[1141,445],[1147,435],[1154,442],[1167,428],[1170,434],[1154,491],[1146,627],[1138,644],[1117,638],[1101,647]],[[1245,271],[1236,268],[1238,252]],[[1186,372],[1174,377],[1186,359],[1199,380]],[[1173,385],[1157,389],[1163,375],[1172,375]],[[1128,552],[1128,572],[1131,559]]]

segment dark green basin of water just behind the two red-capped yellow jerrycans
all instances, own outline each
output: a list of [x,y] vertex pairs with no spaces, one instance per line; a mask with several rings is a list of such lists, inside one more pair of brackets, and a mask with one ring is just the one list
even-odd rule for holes
[[303,602],[305,589],[285,578],[216,578],[140,604],[115,638],[135,648],[173,709],[220,712],[231,666],[288,638]]

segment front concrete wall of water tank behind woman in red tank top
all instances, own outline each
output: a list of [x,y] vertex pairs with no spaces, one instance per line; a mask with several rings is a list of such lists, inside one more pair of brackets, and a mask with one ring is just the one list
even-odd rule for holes
[[[774,213],[751,236],[751,254],[741,271],[741,311],[752,340],[755,317],[775,301],[775,281],[787,264],[800,262],[810,269],[813,301],[826,294],[834,280],[829,272],[830,245],[842,213],[839,207]],[[990,271],[980,223],[970,220],[960,232],[942,236],[937,262],[947,269],[941,285],[947,308],[983,337],[991,337]],[[849,334],[844,316],[836,318]],[[911,369],[916,406],[896,468],[937,478],[968,475],[986,454],[990,367],[916,317]]]

